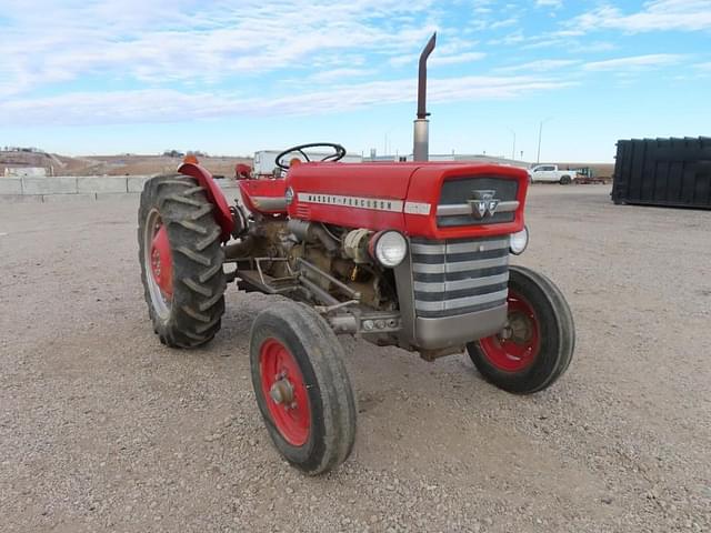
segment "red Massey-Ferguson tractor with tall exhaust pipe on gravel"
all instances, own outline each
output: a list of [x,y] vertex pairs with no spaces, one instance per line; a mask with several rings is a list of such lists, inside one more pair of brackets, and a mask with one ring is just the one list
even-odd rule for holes
[[[509,265],[528,242],[525,170],[427,161],[433,48],[434,37],[420,59],[413,162],[344,164],[343,147],[306,144],[277,158],[281,178],[239,181],[243,204],[229,205],[197,163],[151,179],[141,194],[142,281],[163,344],[209,342],[229,282],[279,296],[251,329],[252,384],[276,447],[311,474],[342,463],[356,438],[337,334],[428,361],[465,351],[513,393],[551,385],[572,358],[561,292]],[[309,161],[317,145],[333,154]]]

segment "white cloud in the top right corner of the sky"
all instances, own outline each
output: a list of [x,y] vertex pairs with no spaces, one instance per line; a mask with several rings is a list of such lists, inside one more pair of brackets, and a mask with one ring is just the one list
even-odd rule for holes
[[571,28],[608,29],[628,33],[648,31],[701,31],[711,29],[709,0],[652,0],[638,12],[625,14],[605,4],[573,18]]

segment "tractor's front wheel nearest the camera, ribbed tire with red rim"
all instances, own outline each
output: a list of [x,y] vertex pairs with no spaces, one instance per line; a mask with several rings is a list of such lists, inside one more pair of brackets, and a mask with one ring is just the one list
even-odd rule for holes
[[274,446],[308,474],[348,459],[356,402],[343,349],[313,310],[280,302],[252,325],[250,364],[257,404]]

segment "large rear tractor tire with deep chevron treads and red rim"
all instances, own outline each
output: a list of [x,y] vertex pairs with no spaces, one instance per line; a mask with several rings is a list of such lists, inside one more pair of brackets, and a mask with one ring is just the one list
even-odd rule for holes
[[148,313],[160,341],[193,348],[210,341],[224,313],[220,228],[196,180],[159,175],[146,183],[138,220]]

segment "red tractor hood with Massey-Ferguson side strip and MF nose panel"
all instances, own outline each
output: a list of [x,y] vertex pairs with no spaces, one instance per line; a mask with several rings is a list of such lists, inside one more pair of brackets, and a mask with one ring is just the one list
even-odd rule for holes
[[525,170],[483,163],[302,163],[289,170],[293,219],[457,239],[523,229]]

